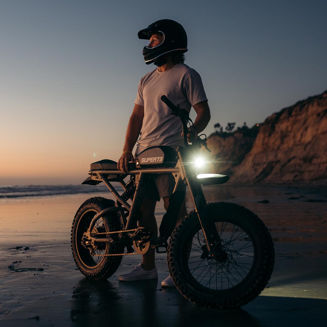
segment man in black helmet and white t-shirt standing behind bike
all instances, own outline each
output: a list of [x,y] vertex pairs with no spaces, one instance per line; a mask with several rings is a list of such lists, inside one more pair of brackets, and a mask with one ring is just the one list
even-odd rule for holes
[[[182,125],[179,117],[170,114],[169,108],[160,97],[167,95],[175,105],[190,112],[193,106],[197,113],[194,126],[201,132],[210,120],[210,110],[201,77],[192,68],[185,65],[184,53],[187,51],[187,36],[181,24],[169,20],[159,20],[139,31],[139,39],[149,40],[143,49],[146,64],[154,63],[158,68],[141,78],[134,109],[127,127],[123,153],[117,167],[128,171],[129,161],[134,162],[132,149],[136,142],[136,154],[150,146],[171,146],[176,149],[183,146]],[[197,134],[196,133],[196,134]],[[188,133],[189,142],[192,133]],[[140,136],[140,138],[139,138]],[[139,138],[139,140],[138,140]],[[157,235],[158,228],[154,217],[156,201],[163,198],[165,209],[173,193],[175,180],[171,174],[152,175],[146,184],[145,197],[141,205],[140,225],[150,228]],[[179,213],[179,221],[187,214],[185,202]],[[135,281],[157,278],[154,262],[154,249],[143,255],[142,264],[134,267],[128,274],[119,276],[121,281]],[[167,277],[162,286],[173,286]]]

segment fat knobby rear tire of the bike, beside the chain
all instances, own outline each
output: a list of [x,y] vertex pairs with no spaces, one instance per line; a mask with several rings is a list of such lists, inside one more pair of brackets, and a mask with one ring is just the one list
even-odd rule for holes
[[[89,226],[90,219],[93,216],[95,216],[101,210],[113,206],[113,200],[101,197],[90,198],[79,207],[74,217],[71,232],[73,257],[78,269],[87,278],[94,280],[107,279],[112,276],[121,263],[122,256],[103,256],[101,261],[95,264],[89,250],[83,248],[81,245],[81,233],[86,231],[85,227],[82,225],[83,222],[85,226],[85,221],[87,220],[87,224]],[[118,224],[116,213],[106,214],[102,217],[102,220],[106,232],[115,230],[115,225]],[[106,235],[104,235],[104,237],[106,237]],[[105,254],[122,253],[124,250],[122,246],[117,246],[113,243],[104,243],[104,247],[105,250],[101,251],[101,253]]]

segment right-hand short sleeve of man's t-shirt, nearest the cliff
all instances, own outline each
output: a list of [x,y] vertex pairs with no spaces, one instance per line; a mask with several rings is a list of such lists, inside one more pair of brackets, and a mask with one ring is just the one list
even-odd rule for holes
[[185,78],[185,93],[192,107],[199,102],[208,101],[202,79],[195,70]]

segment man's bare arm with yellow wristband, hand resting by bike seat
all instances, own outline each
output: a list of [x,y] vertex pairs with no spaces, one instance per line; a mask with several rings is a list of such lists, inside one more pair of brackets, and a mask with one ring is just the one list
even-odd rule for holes
[[133,112],[129,118],[127,126],[123,154],[118,160],[117,168],[124,173],[128,172],[129,161],[134,162],[133,154],[131,153],[133,147],[140,135],[144,117],[144,107],[138,104],[134,105]]

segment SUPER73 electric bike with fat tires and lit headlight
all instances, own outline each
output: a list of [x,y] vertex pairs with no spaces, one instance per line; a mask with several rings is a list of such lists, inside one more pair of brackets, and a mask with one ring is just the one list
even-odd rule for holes
[[[71,234],[74,260],[87,278],[101,280],[115,273],[123,256],[155,248],[167,252],[170,276],[186,299],[201,307],[240,307],[256,298],[270,279],[275,257],[272,238],[250,210],[234,203],[206,202],[202,185],[223,184],[229,177],[197,174],[193,162],[201,146],[207,149],[205,135],[194,135],[195,141],[188,144],[186,134],[196,130],[189,129],[193,123],[188,112],[165,95],[161,99],[171,114],[181,118],[184,147],[147,148],[129,163],[127,174],[112,160],[91,164],[90,176],[82,184],[103,182],[116,201],[90,198],[77,210]],[[168,173],[176,184],[159,236],[153,236],[138,224],[142,189],[152,174]],[[120,183],[124,192],[119,194],[112,182]],[[194,210],[176,225],[186,186]]]

